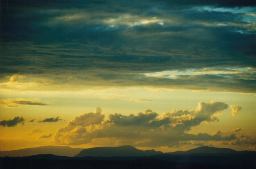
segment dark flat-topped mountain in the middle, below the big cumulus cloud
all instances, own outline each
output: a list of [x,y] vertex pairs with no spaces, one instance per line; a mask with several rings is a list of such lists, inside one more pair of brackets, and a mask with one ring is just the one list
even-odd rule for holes
[[138,150],[132,146],[119,146],[119,147],[94,147],[90,149],[84,149],[75,157],[114,157],[114,156],[122,156],[122,157],[132,157],[132,156],[152,156],[164,154],[161,151],[155,150]]

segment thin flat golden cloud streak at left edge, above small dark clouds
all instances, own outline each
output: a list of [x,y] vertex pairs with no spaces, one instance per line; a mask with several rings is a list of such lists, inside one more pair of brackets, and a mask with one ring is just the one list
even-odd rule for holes
[[13,108],[19,106],[48,105],[49,103],[39,101],[36,98],[0,98],[0,107]]

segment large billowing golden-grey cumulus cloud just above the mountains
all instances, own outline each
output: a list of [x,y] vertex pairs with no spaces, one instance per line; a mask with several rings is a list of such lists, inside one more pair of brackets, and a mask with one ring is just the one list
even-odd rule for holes
[[179,145],[179,141],[187,140],[232,140],[233,133],[185,133],[201,122],[217,121],[217,116],[227,108],[228,105],[222,102],[199,102],[197,109],[191,111],[175,109],[159,115],[146,110],[129,116],[109,114],[106,119],[101,109],[97,108],[94,112],[74,117],[55,133],[54,141],[56,144],[79,145],[102,144],[105,140],[103,145],[110,145],[111,142],[114,145],[157,147]]

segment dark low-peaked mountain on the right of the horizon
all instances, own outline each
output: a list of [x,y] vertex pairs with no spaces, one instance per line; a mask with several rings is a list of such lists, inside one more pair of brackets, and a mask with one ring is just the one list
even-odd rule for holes
[[238,153],[238,151],[227,149],[227,148],[216,148],[216,147],[198,147],[195,149],[191,149],[188,151],[176,151],[176,152],[169,152],[166,154],[171,155],[187,155],[187,154],[234,154]]

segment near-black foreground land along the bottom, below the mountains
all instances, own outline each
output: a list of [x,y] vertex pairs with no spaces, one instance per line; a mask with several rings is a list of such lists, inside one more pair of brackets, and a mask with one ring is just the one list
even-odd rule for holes
[[[176,157],[177,158],[177,157]],[[191,157],[189,157],[191,158]],[[197,157],[198,158],[198,157]],[[205,157],[207,158],[207,157]],[[208,157],[213,158],[213,157]],[[217,158],[217,157],[216,157]],[[162,159],[162,160],[161,160]],[[184,159],[183,159],[184,160]],[[145,158],[0,158],[1,169],[255,169],[256,162],[250,160],[189,159],[173,157],[145,157]]]

